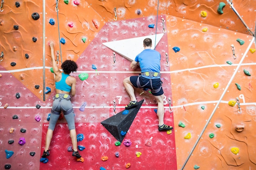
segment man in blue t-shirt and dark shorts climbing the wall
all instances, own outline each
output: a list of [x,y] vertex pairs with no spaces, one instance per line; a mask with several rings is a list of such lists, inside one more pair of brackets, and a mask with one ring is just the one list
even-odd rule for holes
[[137,65],[140,66],[141,74],[139,76],[130,76],[124,79],[124,87],[130,95],[130,103],[125,106],[126,109],[136,107],[138,105],[135,93],[135,88],[149,88],[152,95],[157,101],[157,116],[158,116],[158,130],[171,130],[172,126],[164,124],[164,91],[162,88],[162,81],[160,79],[160,53],[152,50],[152,40],[146,38],[143,41],[144,50],[139,53],[135,60],[130,64],[130,68],[134,69]]

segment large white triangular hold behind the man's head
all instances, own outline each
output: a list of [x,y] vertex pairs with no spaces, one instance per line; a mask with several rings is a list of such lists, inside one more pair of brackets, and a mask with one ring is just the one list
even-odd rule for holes
[[[133,61],[141,51],[144,50],[143,41],[145,38],[152,40],[152,49],[157,46],[164,33],[157,35],[147,35],[143,37],[130,38],[125,40],[117,40],[111,42],[103,42],[102,44],[125,57],[127,60]],[[155,43],[156,42],[156,43]]]

